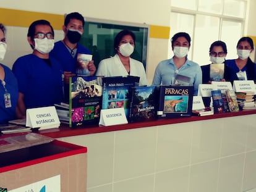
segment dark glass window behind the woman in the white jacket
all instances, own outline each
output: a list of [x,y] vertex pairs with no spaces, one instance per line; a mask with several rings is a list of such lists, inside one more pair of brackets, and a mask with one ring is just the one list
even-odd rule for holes
[[114,38],[124,29],[134,32],[136,37],[131,57],[142,62],[146,69],[148,25],[87,18],[80,43],[92,51],[96,68],[102,59],[114,56]]

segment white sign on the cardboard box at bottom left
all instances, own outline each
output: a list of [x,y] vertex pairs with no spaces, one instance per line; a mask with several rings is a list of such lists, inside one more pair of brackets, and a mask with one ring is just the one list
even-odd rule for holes
[[61,192],[61,175],[46,178],[8,192]]

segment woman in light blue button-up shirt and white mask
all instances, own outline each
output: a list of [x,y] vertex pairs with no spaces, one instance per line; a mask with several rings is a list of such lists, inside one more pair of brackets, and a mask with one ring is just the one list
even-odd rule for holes
[[161,61],[155,70],[152,85],[176,84],[177,75],[182,75],[188,80],[188,84],[194,86],[194,95],[197,95],[198,85],[202,83],[201,67],[187,59],[191,38],[189,34],[176,33],[171,39],[174,56],[171,59]]

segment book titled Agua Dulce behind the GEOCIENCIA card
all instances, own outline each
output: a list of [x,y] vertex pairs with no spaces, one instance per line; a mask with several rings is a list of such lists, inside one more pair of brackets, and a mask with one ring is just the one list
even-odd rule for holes
[[140,77],[103,77],[102,109],[124,107],[127,120],[130,115],[130,88],[139,85]]

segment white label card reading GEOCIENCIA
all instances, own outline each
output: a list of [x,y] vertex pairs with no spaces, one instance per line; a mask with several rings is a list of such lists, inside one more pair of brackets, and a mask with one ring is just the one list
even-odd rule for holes
[[101,109],[99,125],[121,125],[127,124],[126,113],[124,107],[114,109]]

